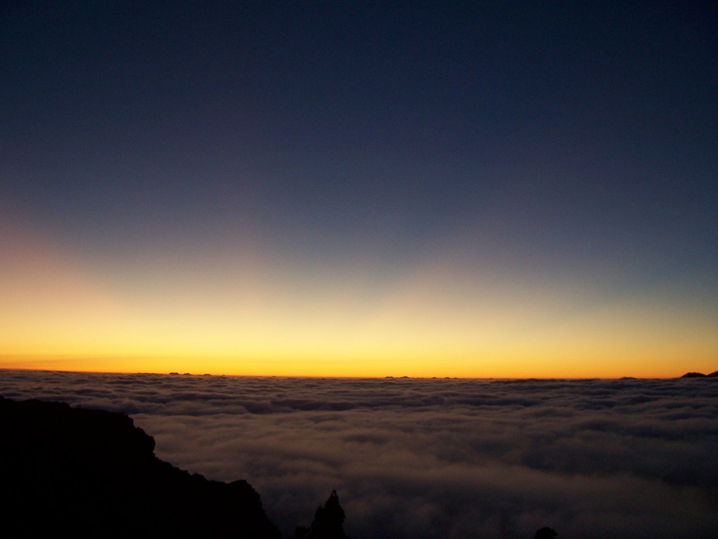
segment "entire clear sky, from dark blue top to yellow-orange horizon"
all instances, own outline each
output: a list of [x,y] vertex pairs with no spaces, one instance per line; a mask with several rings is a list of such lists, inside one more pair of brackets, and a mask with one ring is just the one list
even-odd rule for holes
[[4,2],[0,367],[718,367],[713,2]]

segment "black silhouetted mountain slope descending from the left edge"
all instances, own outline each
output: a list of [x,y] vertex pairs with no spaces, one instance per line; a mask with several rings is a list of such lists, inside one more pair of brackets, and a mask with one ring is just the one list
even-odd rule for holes
[[247,482],[157,459],[120,413],[0,397],[0,473],[5,537],[281,537]]

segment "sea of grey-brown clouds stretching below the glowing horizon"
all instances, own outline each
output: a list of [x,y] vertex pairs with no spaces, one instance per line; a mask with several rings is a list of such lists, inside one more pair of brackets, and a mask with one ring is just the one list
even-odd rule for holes
[[0,371],[0,395],[129,413],[159,458],[247,479],[284,535],[332,489],[353,539],[718,530],[718,379]]

